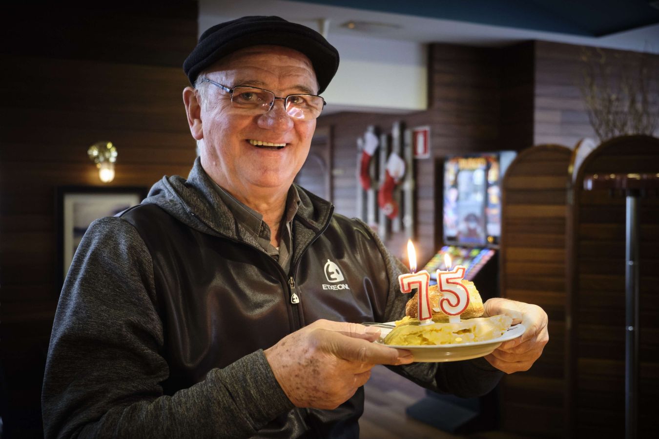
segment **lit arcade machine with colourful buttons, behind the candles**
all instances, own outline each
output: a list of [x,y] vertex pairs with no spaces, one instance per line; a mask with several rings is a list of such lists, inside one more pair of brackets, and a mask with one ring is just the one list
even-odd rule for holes
[[[436,284],[436,271],[451,265],[466,267],[465,279],[476,284],[483,301],[499,296],[498,257],[501,238],[501,182],[514,151],[447,157],[444,161],[444,245],[424,270]],[[438,415],[442,413],[442,415]],[[441,430],[466,434],[496,428],[498,396],[457,398],[426,390],[426,398],[407,408],[407,414]]]

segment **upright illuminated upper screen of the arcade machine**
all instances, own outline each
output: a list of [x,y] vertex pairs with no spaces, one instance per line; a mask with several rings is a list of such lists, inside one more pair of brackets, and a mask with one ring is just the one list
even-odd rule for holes
[[501,178],[515,153],[501,151],[444,162],[444,242],[496,245],[501,236]]

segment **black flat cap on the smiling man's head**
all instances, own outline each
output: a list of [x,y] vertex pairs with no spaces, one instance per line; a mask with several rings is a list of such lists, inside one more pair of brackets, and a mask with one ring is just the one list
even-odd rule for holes
[[206,30],[183,63],[183,70],[194,85],[204,68],[229,53],[260,44],[281,45],[304,53],[316,71],[319,94],[339,68],[339,52],[315,30],[278,16],[244,16]]

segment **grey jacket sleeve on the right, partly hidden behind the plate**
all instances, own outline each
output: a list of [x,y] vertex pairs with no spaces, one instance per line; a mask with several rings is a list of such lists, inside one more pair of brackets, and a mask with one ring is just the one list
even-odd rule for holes
[[[409,272],[409,270],[397,257],[391,254],[380,240],[380,237],[370,227],[366,226],[361,220],[357,219],[357,221],[362,224],[362,227],[376,242],[389,277],[385,321],[399,320],[405,315],[405,303],[407,303],[409,295],[401,293],[398,286],[398,276],[403,272]],[[487,394],[496,387],[503,376],[503,372],[490,365],[484,358],[447,363],[411,363],[409,365],[389,367],[389,369],[420,386],[435,392],[454,394],[461,398]]]

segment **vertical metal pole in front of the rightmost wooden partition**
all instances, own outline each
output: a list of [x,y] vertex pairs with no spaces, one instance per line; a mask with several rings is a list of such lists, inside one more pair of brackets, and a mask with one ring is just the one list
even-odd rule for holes
[[627,192],[625,256],[625,438],[637,437],[639,375],[639,217],[638,191]]

